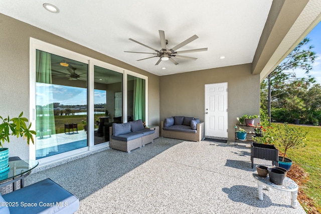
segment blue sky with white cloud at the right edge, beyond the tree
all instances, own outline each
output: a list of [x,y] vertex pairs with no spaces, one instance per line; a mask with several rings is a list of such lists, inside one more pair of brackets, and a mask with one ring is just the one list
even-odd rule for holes
[[[321,22],[314,27],[314,29],[306,36],[310,39],[309,45],[314,46],[312,51],[318,56],[313,63],[313,69],[309,72],[308,75],[311,75],[315,78],[316,83],[321,84]],[[296,77],[306,77],[303,70],[294,70]]]

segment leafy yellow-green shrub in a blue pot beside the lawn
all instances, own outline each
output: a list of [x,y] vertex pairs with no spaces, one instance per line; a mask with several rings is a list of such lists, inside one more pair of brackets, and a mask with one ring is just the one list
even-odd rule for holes
[[278,126],[277,143],[283,148],[283,156],[279,156],[279,167],[289,170],[292,165],[292,160],[286,158],[286,152],[288,149],[297,148],[299,146],[305,146],[305,136],[307,132],[304,132],[299,127],[290,127],[287,123],[282,126]]

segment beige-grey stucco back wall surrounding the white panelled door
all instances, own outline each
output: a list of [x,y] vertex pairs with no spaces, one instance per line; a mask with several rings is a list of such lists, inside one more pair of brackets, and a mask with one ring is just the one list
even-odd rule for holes
[[[260,113],[259,75],[251,74],[251,64],[161,76],[161,114],[194,116],[205,120],[205,84],[228,83],[228,136],[234,139],[237,117]],[[257,120],[258,121],[258,120]]]

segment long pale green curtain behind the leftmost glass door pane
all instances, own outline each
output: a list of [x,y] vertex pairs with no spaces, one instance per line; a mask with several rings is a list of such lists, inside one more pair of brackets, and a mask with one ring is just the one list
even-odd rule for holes
[[[58,144],[55,129],[53,105],[53,85],[51,75],[51,55],[36,51],[36,157],[43,157],[49,152],[57,152]],[[46,138],[50,137],[50,141]],[[50,142],[50,143],[48,143]]]

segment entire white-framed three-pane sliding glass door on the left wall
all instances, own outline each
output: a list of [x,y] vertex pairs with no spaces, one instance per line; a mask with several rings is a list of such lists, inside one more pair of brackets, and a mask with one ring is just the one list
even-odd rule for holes
[[112,123],[147,119],[146,76],[31,38],[30,157],[47,163],[108,146]]

